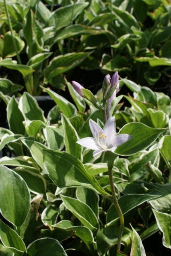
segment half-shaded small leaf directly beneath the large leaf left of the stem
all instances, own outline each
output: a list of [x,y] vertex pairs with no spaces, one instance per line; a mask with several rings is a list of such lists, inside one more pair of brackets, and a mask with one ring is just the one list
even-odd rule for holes
[[76,197],[84,204],[87,204],[97,217],[99,216],[99,196],[95,191],[87,187],[77,187]]

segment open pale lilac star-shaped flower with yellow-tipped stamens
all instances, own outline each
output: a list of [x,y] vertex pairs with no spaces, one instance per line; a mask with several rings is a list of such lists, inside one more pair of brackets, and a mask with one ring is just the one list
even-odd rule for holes
[[80,139],[77,143],[85,148],[93,149],[93,156],[107,150],[114,152],[118,146],[132,137],[129,134],[116,134],[115,117],[110,117],[103,129],[92,119],[89,120],[89,125],[93,137]]

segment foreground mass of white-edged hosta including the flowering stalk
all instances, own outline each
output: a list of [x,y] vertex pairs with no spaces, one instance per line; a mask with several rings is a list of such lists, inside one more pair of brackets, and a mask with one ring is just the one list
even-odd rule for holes
[[47,117],[27,92],[3,97],[1,255],[166,255],[171,100],[117,73],[96,95],[66,83],[75,105],[45,89]]

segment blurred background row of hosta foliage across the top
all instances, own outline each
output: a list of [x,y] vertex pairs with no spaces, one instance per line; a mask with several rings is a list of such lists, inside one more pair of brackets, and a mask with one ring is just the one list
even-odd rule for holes
[[168,87],[169,1],[66,0],[54,11],[54,1],[5,2],[6,8],[0,1],[2,92],[13,94],[24,86],[39,95],[39,85],[64,89],[63,75],[76,79],[75,71],[80,83],[87,85],[101,81],[100,73],[119,71],[141,85]]

